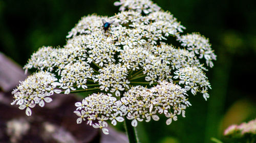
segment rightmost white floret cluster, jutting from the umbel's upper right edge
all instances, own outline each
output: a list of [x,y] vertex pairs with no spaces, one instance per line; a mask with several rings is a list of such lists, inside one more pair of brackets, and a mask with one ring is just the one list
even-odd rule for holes
[[178,37],[181,45],[188,47],[187,49],[192,53],[199,54],[199,58],[204,58],[206,60],[206,65],[213,67],[214,63],[212,60],[216,60],[216,54],[214,50],[211,49],[209,40],[204,36],[197,33],[182,35]]

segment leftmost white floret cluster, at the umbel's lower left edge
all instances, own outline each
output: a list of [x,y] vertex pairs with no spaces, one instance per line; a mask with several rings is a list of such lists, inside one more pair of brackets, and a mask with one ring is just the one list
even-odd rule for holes
[[60,90],[55,89],[59,84],[56,82],[58,79],[54,74],[49,72],[38,72],[30,75],[25,81],[20,82],[14,94],[14,101],[12,105],[19,105],[19,109],[26,108],[26,115],[31,116],[31,109],[36,104],[44,107],[45,102],[49,103],[52,99],[49,97],[53,93],[60,93]]

